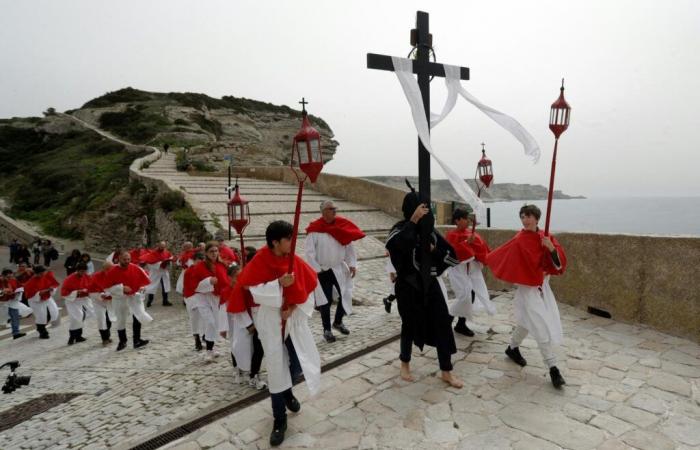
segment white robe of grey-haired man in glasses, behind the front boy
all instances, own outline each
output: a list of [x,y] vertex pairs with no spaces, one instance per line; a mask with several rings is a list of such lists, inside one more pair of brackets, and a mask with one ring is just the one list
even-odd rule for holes
[[[340,292],[333,288],[333,294],[340,295],[345,313],[352,314],[352,288],[353,278],[350,267],[357,267],[357,254],[352,242],[348,245],[340,245],[338,241],[328,233],[309,233],[304,241],[304,255],[306,262],[316,272],[331,269],[338,280]],[[321,284],[314,292],[316,306],[328,303]]]

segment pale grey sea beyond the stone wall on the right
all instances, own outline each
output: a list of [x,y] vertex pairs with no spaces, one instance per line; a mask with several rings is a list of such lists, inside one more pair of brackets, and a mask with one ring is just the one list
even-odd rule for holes
[[[491,227],[520,229],[518,210],[525,203],[542,210],[544,228],[546,200],[486,203]],[[482,226],[485,226],[483,224]],[[554,200],[552,233],[623,233],[659,236],[700,236],[700,197],[625,197]]]

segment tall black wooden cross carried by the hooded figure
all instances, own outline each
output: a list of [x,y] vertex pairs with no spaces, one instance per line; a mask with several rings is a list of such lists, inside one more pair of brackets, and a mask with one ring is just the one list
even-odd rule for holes
[[[418,87],[423,99],[423,109],[425,118],[428,121],[430,130],[430,80],[433,77],[445,77],[445,67],[442,64],[430,62],[430,52],[432,50],[433,36],[429,32],[428,13],[416,12],[416,28],[411,30],[411,45],[416,50],[413,60],[413,73],[418,76]],[[433,55],[434,55],[433,51]],[[394,63],[391,56],[367,53],[367,68],[394,71]],[[469,68],[460,67],[460,79],[469,79]],[[430,153],[425,149],[420,138],[418,139],[418,191],[421,202],[427,203],[430,207]],[[430,282],[430,233],[432,230],[421,228],[421,278],[423,279],[423,289],[427,294]],[[425,297],[428,301],[428,297]]]

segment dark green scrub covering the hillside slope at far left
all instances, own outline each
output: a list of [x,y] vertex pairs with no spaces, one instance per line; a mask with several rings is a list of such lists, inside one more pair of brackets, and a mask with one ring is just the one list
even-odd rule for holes
[[82,237],[79,216],[94,211],[127,186],[129,165],[145,153],[92,131],[49,134],[0,123],[0,195],[10,213],[37,222],[58,237]]

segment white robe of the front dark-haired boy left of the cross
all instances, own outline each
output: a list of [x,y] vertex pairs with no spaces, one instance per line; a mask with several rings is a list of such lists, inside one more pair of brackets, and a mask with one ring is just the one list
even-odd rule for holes
[[299,358],[306,386],[315,395],[321,385],[321,357],[309,328],[309,317],[314,310],[314,294],[298,305],[287,320],[285,336],[282,336],[282,287],[277,280],[250,288],[255,303],[260,305],[255,315],[255,328],[265,351],[268,388],[271,394],[284,392],[292,387],[289,373],[289,355],[284,339],[290,336]]

